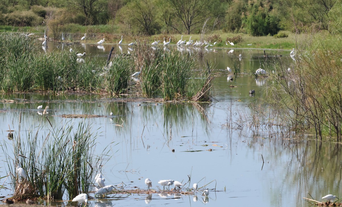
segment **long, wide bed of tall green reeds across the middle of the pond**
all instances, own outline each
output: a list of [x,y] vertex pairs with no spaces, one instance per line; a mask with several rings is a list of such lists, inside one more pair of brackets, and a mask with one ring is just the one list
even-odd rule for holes
[[[79,57],[69,51],[41,53],[37,45],[21,33],[0,34],[0,91],[86,91],[116,97],[136,91],[165,101],[210,100],[210,75],[195,72],[197,60],[189,54],[138,42],[131,55],[115,56],[101,67],[94,59],[79,63]],[[132,81],[131,74],[139,70]]]

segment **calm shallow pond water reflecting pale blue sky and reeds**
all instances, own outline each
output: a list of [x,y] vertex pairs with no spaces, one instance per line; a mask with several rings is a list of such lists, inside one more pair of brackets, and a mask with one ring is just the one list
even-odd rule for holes
[[[49,42],[48,52],[73,47],[77,52],[87,53],[86,61],[88,58],[105,61],[113,45],[103,46],[104,49],[96,44],[62,47],[58,42]],[[117,45],[114,46],[115,53],[121,53]],[[122,45],[122,51],[127,50],[127,45]],[[44,108],[49,103],[47,117],[53,126],[70,121],[77,125],[83,121],[62,118],[62,114],[104,115],[88,120],[92,123],[92,130],[97,129],[98,133],[95,154],[101,154],[108,147],[113,155],[102,168],[106,184],[123,182],[126,184],[124,189],[146,189],[144,180],[150,178],[152,188],[158,189],[159,180],[173,179],[184,184],[188,182],[187,175],[191,175],[191,182],[185,187],[190,184],[191,188],[195,182],[199,187],[209,183],[206,187],[210,190],[208,199],[198,192],[196,202],[194,195],[161,192],[152,197],[146,194],[113,194],[112,199],[90,201],[91,206],[308,206],[310,204],[302,197],[310,198],[309,193],[318,201],[326,194],[339,197],[342,187],[338,143],[316,143],[310,136],[308,138],[311,139],[301,139],[295,137],[295,133],[282,134],[280,128],[271,130],[263,125],[251,130],[248,121],[242,121],[244,126],[237,127],[242,118],[250,120],[248,117],[255,112],[248,107],[249,103],[267,96],[267,79],[255,80],[248,73],[259,67],[270,72],[272,64],[279,60],[286,68],[291,67],[293,60],[289,51],[267,50],[269,56],[277,54],[282,57],[265,60],[262,50],[234,49],[232,53],[229,53],[231,48],[215,50],[218,53],[213,50],[205,52],[204,59],[211,61],[215,66],[214,72],[220,74],[213,81],[213,95],[217,101],[156,105],[154,102],[109,99],[97,95],[1,95],[0,99],[15,100],[15,103],[0,103],[3,140],[11,142],[6,137],[6,130],[9,126],[18,130],[19,114],[23,133],[37,126],[43,126],[42,133],[47,132],[49,123],[37,113],[37,106],[43,105]],[[239,54],[242,54],[241,61]],[[242,74],[230,81],[225,68],[233,68],[234,64]],[[254,97],[249,96],[250,89],[255,89]],[[269,108],[264,106],[260,110]],[[113,117],[109,116],[110,112],[113,112]],[[233,128],[226,127],[230,118],[236,123]],[[122,127],[115,124],[122,124]],[[1,160],[5,160],[5,156],[0,152]],[[0,164],[0,177],[7,175],[6,166],[5,163]],[[8,180],[6,187],[10,187]],[[0,181],[3,183],[4,178]],[[7,197],[11,193],[13,191],[1,189],[1,196]]]

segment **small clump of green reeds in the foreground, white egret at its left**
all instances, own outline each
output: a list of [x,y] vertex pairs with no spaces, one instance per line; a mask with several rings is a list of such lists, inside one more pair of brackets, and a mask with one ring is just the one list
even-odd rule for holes
[[[13,150],[14,157],[6,157],[8,171],[12,179],[14,200],[31,197],[61,199],[64,195],[73,198],[79,193],[89,193],[97,172],[95,166],[106,162],[104,156],[93,154],[97,134],[91,133],[91,125],[86,121],[78,126],[70,122],[59,128],[50,129],[41,135],[41,127],[36,132],[28,131],[21,138],[20,130],[13,139],[13,146],[2,145],[5,154]],[[104,149],[104,152],[106,149]],[[16,166],[20,164],[28,175],[18,176]]]

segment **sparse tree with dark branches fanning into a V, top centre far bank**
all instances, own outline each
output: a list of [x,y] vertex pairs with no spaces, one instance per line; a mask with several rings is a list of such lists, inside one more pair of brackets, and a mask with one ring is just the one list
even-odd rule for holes
[[175,9],[188,34],[208,17],[209,0],[166,0]]

